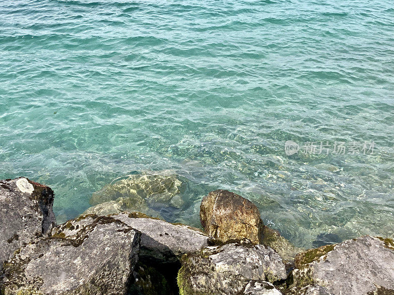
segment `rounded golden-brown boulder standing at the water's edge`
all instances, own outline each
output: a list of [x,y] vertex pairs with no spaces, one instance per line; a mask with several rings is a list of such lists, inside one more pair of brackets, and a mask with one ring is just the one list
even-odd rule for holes
[[226,190],[210,192],[202,199],[200,221],[206,233],[222,242],[263,239],[259,209],[249,200]]

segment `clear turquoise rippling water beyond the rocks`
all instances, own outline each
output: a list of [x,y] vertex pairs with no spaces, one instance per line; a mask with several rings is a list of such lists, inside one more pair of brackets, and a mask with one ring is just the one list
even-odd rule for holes
[[[394,236],[393,49],[392,0],[2,0],[0,179],[50,185],[65,221],[170,169],[299,246]],[[168,218],[196,225],[199,200]]]

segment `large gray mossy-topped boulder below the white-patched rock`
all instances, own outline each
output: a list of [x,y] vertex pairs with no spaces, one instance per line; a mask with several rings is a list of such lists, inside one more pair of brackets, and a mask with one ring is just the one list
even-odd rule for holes
[[125,295],[140,233],[113,217],[85,215],[20,248],[4,266],[5,295]]

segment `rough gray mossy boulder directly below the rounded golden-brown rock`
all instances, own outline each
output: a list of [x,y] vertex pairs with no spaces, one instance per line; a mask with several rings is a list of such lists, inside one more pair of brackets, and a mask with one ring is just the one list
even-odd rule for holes
[[238,295],[251,281],[274,282],[285,278],[285,265],[271,248],[232,243],[204,247],[200,253],[185,255],[178,286],[181,295]]

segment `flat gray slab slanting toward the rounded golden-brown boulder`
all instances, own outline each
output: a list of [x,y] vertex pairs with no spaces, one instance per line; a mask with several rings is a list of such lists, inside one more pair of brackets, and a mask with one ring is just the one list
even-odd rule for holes
[[111,215],[141,232],[140,257],[162,263],[178,262],[183,254],[194,253],[210,240],[195,228],[172,224],[145,214],[123,212]]

